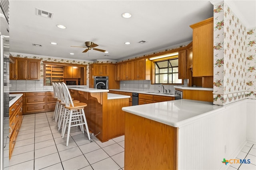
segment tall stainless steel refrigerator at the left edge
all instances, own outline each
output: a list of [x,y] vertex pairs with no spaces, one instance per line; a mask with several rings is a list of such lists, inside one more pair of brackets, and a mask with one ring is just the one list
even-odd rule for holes
[[[9,2],[0,0],[1,170],[9,164]],[[11,130],[11,129],[10,129]]]

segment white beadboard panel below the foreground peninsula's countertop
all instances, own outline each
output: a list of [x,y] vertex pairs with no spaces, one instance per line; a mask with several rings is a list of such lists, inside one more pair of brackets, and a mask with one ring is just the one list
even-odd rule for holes
[[247,101],[222,107],[180,127],[178,169],[226,169],[223,158],[235,158],[246,143]]

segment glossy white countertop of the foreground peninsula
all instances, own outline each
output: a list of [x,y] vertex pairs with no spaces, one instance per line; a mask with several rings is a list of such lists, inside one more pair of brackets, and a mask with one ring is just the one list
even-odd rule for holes
[[213,114],[219,109],[224,109],[224,107],[213,105],[212,102],[187,99],[122,107],[123,111],[172,127],[181,127],[189,124],[202,117]]

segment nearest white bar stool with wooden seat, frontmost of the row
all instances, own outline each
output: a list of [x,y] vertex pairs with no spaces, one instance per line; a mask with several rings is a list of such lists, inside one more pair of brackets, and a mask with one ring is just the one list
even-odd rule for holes
[[[85,117],[85,114],[84,114],[84,107],[86,107],[87,104],[86,103],[76,103],[76,104],[74,104],[66,84],[64,82],[62,82],[61,85],[62,85],[62,90],[63,90],[63,94],[64,94],[64,99],[65,99],[65,108],[68,110],[65,125],[64,125],[64,129],[63,129],[63,133],[62,133],[62,138],[64,138],[64,135],[65,135],[65,132],[66,132],[66,127],[68,126],[66,146],[68,146],[69,135],[70,135],[70,127],[73,127],[73,126],[78,126],[79,125],[80,128],[81,128],[82,133],[84,133],[84,125],[85,125],[86,132],[87,132],[87,135],[88,135],[88,139],[91,140],[88,125],[87,125],[87,121],[86,121],[86,117]],[[71,125],[71,123],[75,123],[75,124]]]

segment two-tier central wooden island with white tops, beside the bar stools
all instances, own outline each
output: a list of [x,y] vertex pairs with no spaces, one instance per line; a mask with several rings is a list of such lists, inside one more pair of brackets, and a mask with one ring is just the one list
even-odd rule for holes
[[124,111],[129,106],[130,96],[109,94],[109,90],[88,87],[68,87],[74,100],[84,102],[88,128],[105,142],[124,135]]

